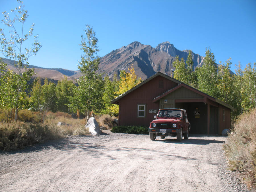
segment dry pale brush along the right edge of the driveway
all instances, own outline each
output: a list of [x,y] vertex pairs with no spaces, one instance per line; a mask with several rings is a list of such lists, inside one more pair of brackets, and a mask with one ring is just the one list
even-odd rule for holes
[[240,172],[248,187],[256,187],[256,108],[239,116],[223,145],[230,170]]

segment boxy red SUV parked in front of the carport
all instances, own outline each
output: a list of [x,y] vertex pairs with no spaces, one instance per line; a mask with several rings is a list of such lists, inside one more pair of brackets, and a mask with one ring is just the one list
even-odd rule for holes
[[187,112],[184,109],[160,109],[156,118],[150,123],[148,129],[151,140],[156,136],[164,139],[166,136],[177,137],[177,141],[188,139],[190,123],[187,120]]

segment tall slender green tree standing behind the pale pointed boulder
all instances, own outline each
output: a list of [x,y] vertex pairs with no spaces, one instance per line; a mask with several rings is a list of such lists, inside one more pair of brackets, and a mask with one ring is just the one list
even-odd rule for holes
[[95,32],[90,25],[86,26],[86,38],[81,36],[81,50],[84,55],[81,56],[78,69],[81,71],[82,76],[78,79],[78,87],[75,89],[74,97],[71,98],[69,105],[73,112],[79,110],[87,119],[90,113],[94,111],[99,113],[103,108],[103,87],[102,74],[97,73],[100,58],[97,55],[99,51],[95,37]]

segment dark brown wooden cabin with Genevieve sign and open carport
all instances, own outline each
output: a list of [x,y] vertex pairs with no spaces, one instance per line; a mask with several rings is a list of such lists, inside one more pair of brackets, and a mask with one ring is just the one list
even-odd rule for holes
[[112,100],[119,105],[119,125],[149,126],[159,109],[187,111],[190,133],[221,134],[230,128],[232,106],[163,73],[156,73]]

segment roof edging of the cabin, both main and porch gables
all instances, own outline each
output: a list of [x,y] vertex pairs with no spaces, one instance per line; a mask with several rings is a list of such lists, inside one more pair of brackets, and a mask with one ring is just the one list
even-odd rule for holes
[[149,77],[148,79],[144,80],[144,81],[141,82],[140,84],[136,85],[135,87],[131,88],[130,90],[126,91],[125,93],[123,93],[123,94],[117,96],[115,99],[113,99],[113,100],[111,101],[111,103],[112,103],[112,104],[117,104],[118,101],[119,101],[122,97],[124,97],[125,95],[129,94],[129,93],[132,92],[133,90],[139,88],[140,86],[144,85],[146,82],[148,82],[148,81],[154,79],[154,78],[157,77],[158,75],[160,75],[160,76],[162,76],[162,77],[164,77],[164,78],[166,78],[166,79],[168,79],[168,80],[171,80],[171,81],[177,83],[178,85],[175,86],[175,87],[173,87],[173,88],[171,88],[170,90],[168,90],[168,91],[162,93],[161,95],[157,96],[156,98],[154,98],[154,99],[153,99],[153,102],[156,102],[156,101],[160,100],[160,99],[163,98],[164,96],[170,94],[171,92],[177,90],[177,89],[180,88],[180,87],[185,87],[185,88],[187,88],[187,89],[189,89],[189,90],[191,90],[191,91],[193,91],[193,92],[196,92],[197,94],[202,95],[203,97],[206,97],[206,98],[208,98],[208,99],[210,99],[210,100],[212,100],[212,101],[214,101],[214,102],[216,102],[216,103],[218,103],[218,104],[221,104],[221,105],[223,105],[223,106],[225,106],[225,107],[227,107],[227,108],[230,108],[230,109],[233,110],[233,111],[236,111],[236,109],[235,109],[234,107],[232,107],[232,106],[226,104],[225,102],[222,102],[222,101],[219,100],[219,99],[216,99],[216,98],[214,98],[214,97],[212,97],[212,96],[210,96],[210,95],[208,95],[208,94],[206,94],[206,93],[204,93],[204,92],[202,92],[202,91],[199,91],[199,90],[197,90],[197,89],[195,89],[195,88],[193,88],[193,87],[191,87],[191,86],[189,86],[189,85],[187,85],[187,84],[185,84],[185,83],[183,83],[183,82],[181,82],[181,81],[179,81],[179,80],[177,80],[177,79],[174,79],[174,78],[172,78],[172,77],[170,77],[170,76],[168,76],[168,75],[165,75],[165,74],[163,74],[163,73],[161,73],[161,72],[155,73],[154,75],[152,75],[152,76]]

